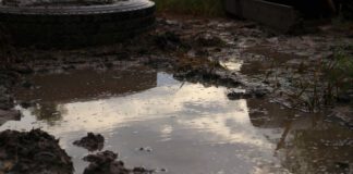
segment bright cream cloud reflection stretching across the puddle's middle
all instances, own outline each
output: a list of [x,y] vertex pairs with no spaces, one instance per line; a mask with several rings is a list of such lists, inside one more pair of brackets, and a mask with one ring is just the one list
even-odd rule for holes
[[[58,111],[61,119],[50,119],[50,124],[37,123],[61,137],[71,132],[106,132],[136,122],[174,116],[178,125],[173,126],[212,135],[208,136],[208,140],[214,142],[271,148],[271,144],[252,126],[245,100],[228,100],[226,88],[205,88],[200,84],[188,83],[181,87],[180,82],[163,73],[158,74],[158,78],[159,86],[142,92],[92,101],[59,102],[49,109]],[[46,105],[42,107],[48,110]],[[29,114],[36,115],[39,121],[48,120],[41,116],[47,113],[42,109],[39,110],[41,112]],[[58,125],[52,122],[58,122]],[[172,126],[165,127],[161,134],[166,135],[172,129]]]

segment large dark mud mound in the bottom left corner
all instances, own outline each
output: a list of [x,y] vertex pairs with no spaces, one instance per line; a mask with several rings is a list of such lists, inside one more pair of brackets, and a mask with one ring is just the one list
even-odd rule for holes
[[0,173],[72,174],[71,158],[58,142],[40,129],[0,133]]

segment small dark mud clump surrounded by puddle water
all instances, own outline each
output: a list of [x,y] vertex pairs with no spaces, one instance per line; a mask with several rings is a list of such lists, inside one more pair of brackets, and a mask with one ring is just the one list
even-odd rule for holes
[[78,147],[83,147],[88,151],[101,150],[105,146],[105,137],[100,134],[87,133],[86,137],[83,137],[81,140],[73,142]]

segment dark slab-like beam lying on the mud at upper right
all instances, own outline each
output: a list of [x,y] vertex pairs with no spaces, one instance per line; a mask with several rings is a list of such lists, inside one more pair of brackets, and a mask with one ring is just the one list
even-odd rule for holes
[[299,12],[293,7],[264,0],[227,0],[230,14],[254,20],[282,33],[292,32],[300,23]]

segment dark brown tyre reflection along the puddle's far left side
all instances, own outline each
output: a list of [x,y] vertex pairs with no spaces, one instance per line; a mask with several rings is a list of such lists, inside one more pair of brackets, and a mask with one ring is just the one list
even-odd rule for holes
[[66,74],[36,75],[28,80],[37,89],[17,88],[16,99],[39,101],[31,109],[32,114],[53,125],[62,120],[62,115],[66,115],[68,110],[62,103],[149,89],[157,85],[157,72],[144,66],[105,72],[78,70]]

